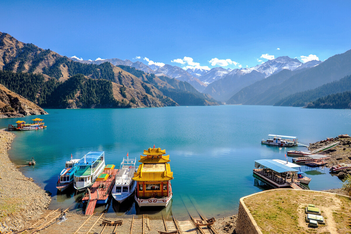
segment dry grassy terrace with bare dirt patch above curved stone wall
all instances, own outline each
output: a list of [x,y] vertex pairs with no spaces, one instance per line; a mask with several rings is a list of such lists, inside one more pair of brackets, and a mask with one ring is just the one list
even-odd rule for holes
[[[247,197],[244,203],[264,234],[351,233],[351,200],[336,194],[276,189]],[[322,211],[325,225],[308,227],[308,204],[315,204]]]

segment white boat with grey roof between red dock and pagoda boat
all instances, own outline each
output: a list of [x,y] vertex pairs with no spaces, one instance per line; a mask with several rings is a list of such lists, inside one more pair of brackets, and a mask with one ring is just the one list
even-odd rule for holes
[[116,175],[116,181],[112,189],[112,197],[119,203],[122,203],[135,192],[137,182],[135,182],[132,178],[138,169],[135,167],[136,161],[137,158],[129,159],[127,153],[127,158],[123,158],[121,162],[121,166],[118,174]]

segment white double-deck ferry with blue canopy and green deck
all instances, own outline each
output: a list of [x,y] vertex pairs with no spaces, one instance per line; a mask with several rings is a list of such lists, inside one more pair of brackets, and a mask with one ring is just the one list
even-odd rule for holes
[[105,168],[105,151],[90,151],[75,165],[74,188],[83,191],[93,185]]

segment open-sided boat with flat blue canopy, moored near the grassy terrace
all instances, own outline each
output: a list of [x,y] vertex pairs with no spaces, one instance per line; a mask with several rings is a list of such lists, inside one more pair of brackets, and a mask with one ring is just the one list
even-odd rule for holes
[[253,176],[269,184],[273,188],[299,188],[300,181],[297,180],[296,173],[298,170],[288,167],[282,163],[273,160],[255,161]]

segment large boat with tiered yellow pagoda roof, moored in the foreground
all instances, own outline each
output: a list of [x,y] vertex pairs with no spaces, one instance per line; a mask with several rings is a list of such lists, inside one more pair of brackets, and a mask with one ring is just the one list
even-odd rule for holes
[[137,182],[135,201],[139,207],[166,207],[172,199],[170,156],[165,156],[166,150],[161,148],[149,148],[143,154],[139,160],[142,164],[133,177]]

